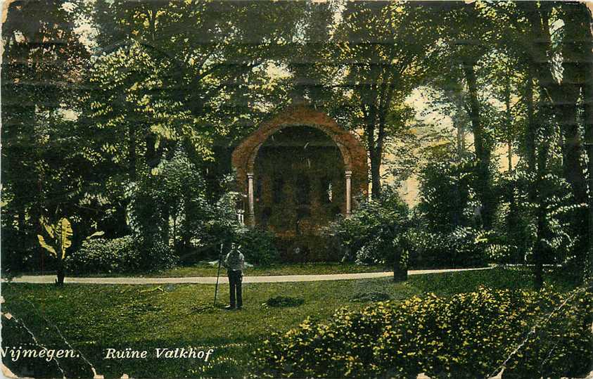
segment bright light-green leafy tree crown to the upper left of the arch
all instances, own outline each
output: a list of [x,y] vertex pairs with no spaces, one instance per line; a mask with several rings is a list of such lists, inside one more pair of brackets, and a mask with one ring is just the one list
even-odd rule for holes
[[[161,158],[159,149],[180,141],[203,160],[212,159],[212,139],[205,124],[175,97],[177,92],[163,91],[179,76],[175,70],[179,65],[174,59],[138,41],[94,60],[88,79],[93,91],[85,100],[88,117],[101,136],[101,146],[95,146],[98,152],[127,162],[128,144],[133,141],[137,153],[153,166]],[[129,165],[133,169],[137,162]]]

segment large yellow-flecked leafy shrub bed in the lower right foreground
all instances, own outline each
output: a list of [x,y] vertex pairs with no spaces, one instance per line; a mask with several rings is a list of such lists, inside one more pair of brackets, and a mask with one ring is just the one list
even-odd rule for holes
[[[576,375],[592,364],[593,297],[489,290],[339,309],[305,319],[254,352],[254,373],[295,378],[509,378]],[[490,375],[493,376],[493,375]]]

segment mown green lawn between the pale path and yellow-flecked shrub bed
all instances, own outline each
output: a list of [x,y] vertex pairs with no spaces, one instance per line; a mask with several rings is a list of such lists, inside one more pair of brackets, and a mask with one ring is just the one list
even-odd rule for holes
[[[255,274],[253,274],[255,275]],[[177,276],[177,275],[175,275]],[[548,282],[557,290],[575,286],[552,274]],[[438,295],[469,292],[480,284],[492,288],[531,288],[524,269],[492,269],[448,274],[410,276],[406,283],[390,278],[307,283],[252,283],[243,285],[246,309],[224,311],[212,307],[214,285],[54,285],[3,283],[3,347],[24,345],[30,328],[48,348],[68,348],[68,341],[106,378],[122,374],[135,378],[242,377],[248,373],[249,354],[273,331],[288,330],[305,317],[326,319],[338,307],[364,307],[353,301],[368,293],[388,294],[393,300],[433,292]],[[278,295],[298,297],[298,307],[272,308],[264,303]],[[228,286],[219,288],[219,300],[227,302]],[[16,321],[18,319],[18,321]],[[60,336],[63,335],[63,338]],[[198,359],[157,359],[155,348],[203,347],[215,349],[204,364]],[[146,359],[104,359],[106,349],[148,350]],[[35,374],[27,359],[4,359],[20,375]],[[81,359],[60,359],[68,377],[91,377]],[[46,367],[51,365],[46,364]],[[78,368],[77,368],[78,367]],[[80,369],[82,367],[82,371]],[[28,370],[28,371],[27,371]],[[44,368],[47,376],[59,374],[56,365]],[[53,371],[52,371],[53,370]]]

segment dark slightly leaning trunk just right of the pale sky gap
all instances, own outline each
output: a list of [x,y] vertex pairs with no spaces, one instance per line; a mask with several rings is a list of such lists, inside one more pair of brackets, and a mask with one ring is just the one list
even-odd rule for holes
[[471,128],[473,132],[473,145],[476,149],[476,158],[478,160],[477,176],[478,184],[476,192],[482,203],[481,219],[483,228],[490,230],[494,216],[495,199],[492,193],[490,183],[490,144],[487,143],[484,134],[483,124],[480,120],[480,104],[478,103],[478,85],[476,84],[476,72],[474,63],[464,63],[464,74],[469,93],[469,117],[471,119]]

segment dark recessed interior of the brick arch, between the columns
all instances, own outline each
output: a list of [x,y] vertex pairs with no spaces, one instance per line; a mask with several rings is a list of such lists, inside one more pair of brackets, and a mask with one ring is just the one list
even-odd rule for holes
[[316,234],[345,213],[345,160],[324,131],[304,125],[279,129],[253,159],[255,224],[278,236]]

